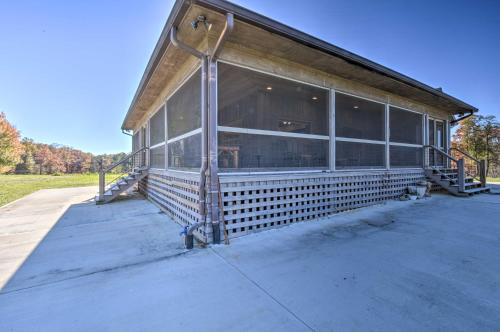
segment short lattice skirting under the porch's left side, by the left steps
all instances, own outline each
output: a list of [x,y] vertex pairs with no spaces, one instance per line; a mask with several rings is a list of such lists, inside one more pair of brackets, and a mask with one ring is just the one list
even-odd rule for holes
[[[199,214],[199,175],[180,172],[150,170],[139,183],[139,191],[159,205],[182,226],[201,220]],[[199,240],[207,241],[205,229],[194,233]]]

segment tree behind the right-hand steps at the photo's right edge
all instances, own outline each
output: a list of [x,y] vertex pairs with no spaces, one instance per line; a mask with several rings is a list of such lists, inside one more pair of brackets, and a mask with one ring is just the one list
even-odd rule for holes
[[500,171],[500,123],[493,115],[474,115],[462,120],[453,135],[453,144],[476,159],[485,159],[486,174]]

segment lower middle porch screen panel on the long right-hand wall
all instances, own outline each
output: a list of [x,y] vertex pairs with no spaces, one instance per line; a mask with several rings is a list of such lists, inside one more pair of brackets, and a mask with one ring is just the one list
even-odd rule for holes
[[337,169],[378,169],[385,167],[385,145],[337,141]]

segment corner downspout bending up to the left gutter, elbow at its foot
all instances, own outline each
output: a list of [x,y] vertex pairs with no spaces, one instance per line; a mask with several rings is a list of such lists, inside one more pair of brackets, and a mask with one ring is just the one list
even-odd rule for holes
[[170,41],[172,45],[178,47],[187,53],[197,57],[201,60],[201,167],[200,167],[200,185],[199,185],[199,195],[200,201],[198,208],[200,211],[201,221],[189,226],[186,230],[186,248],[192,249],[194,245],[193,232],[199,227],[203,226],[207,222],[207,211],[205,206],[205,184],[208,169],[208,57],[204,53],[198,51],[191,46],[188,46],[177,39],[177,28],[172,27],[170,30]]

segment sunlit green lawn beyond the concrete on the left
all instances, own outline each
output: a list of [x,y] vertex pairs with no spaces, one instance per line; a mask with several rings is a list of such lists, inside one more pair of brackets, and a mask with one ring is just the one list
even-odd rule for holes
[[99,174],[0,175],[0,206],[39,189],[97,186]]

